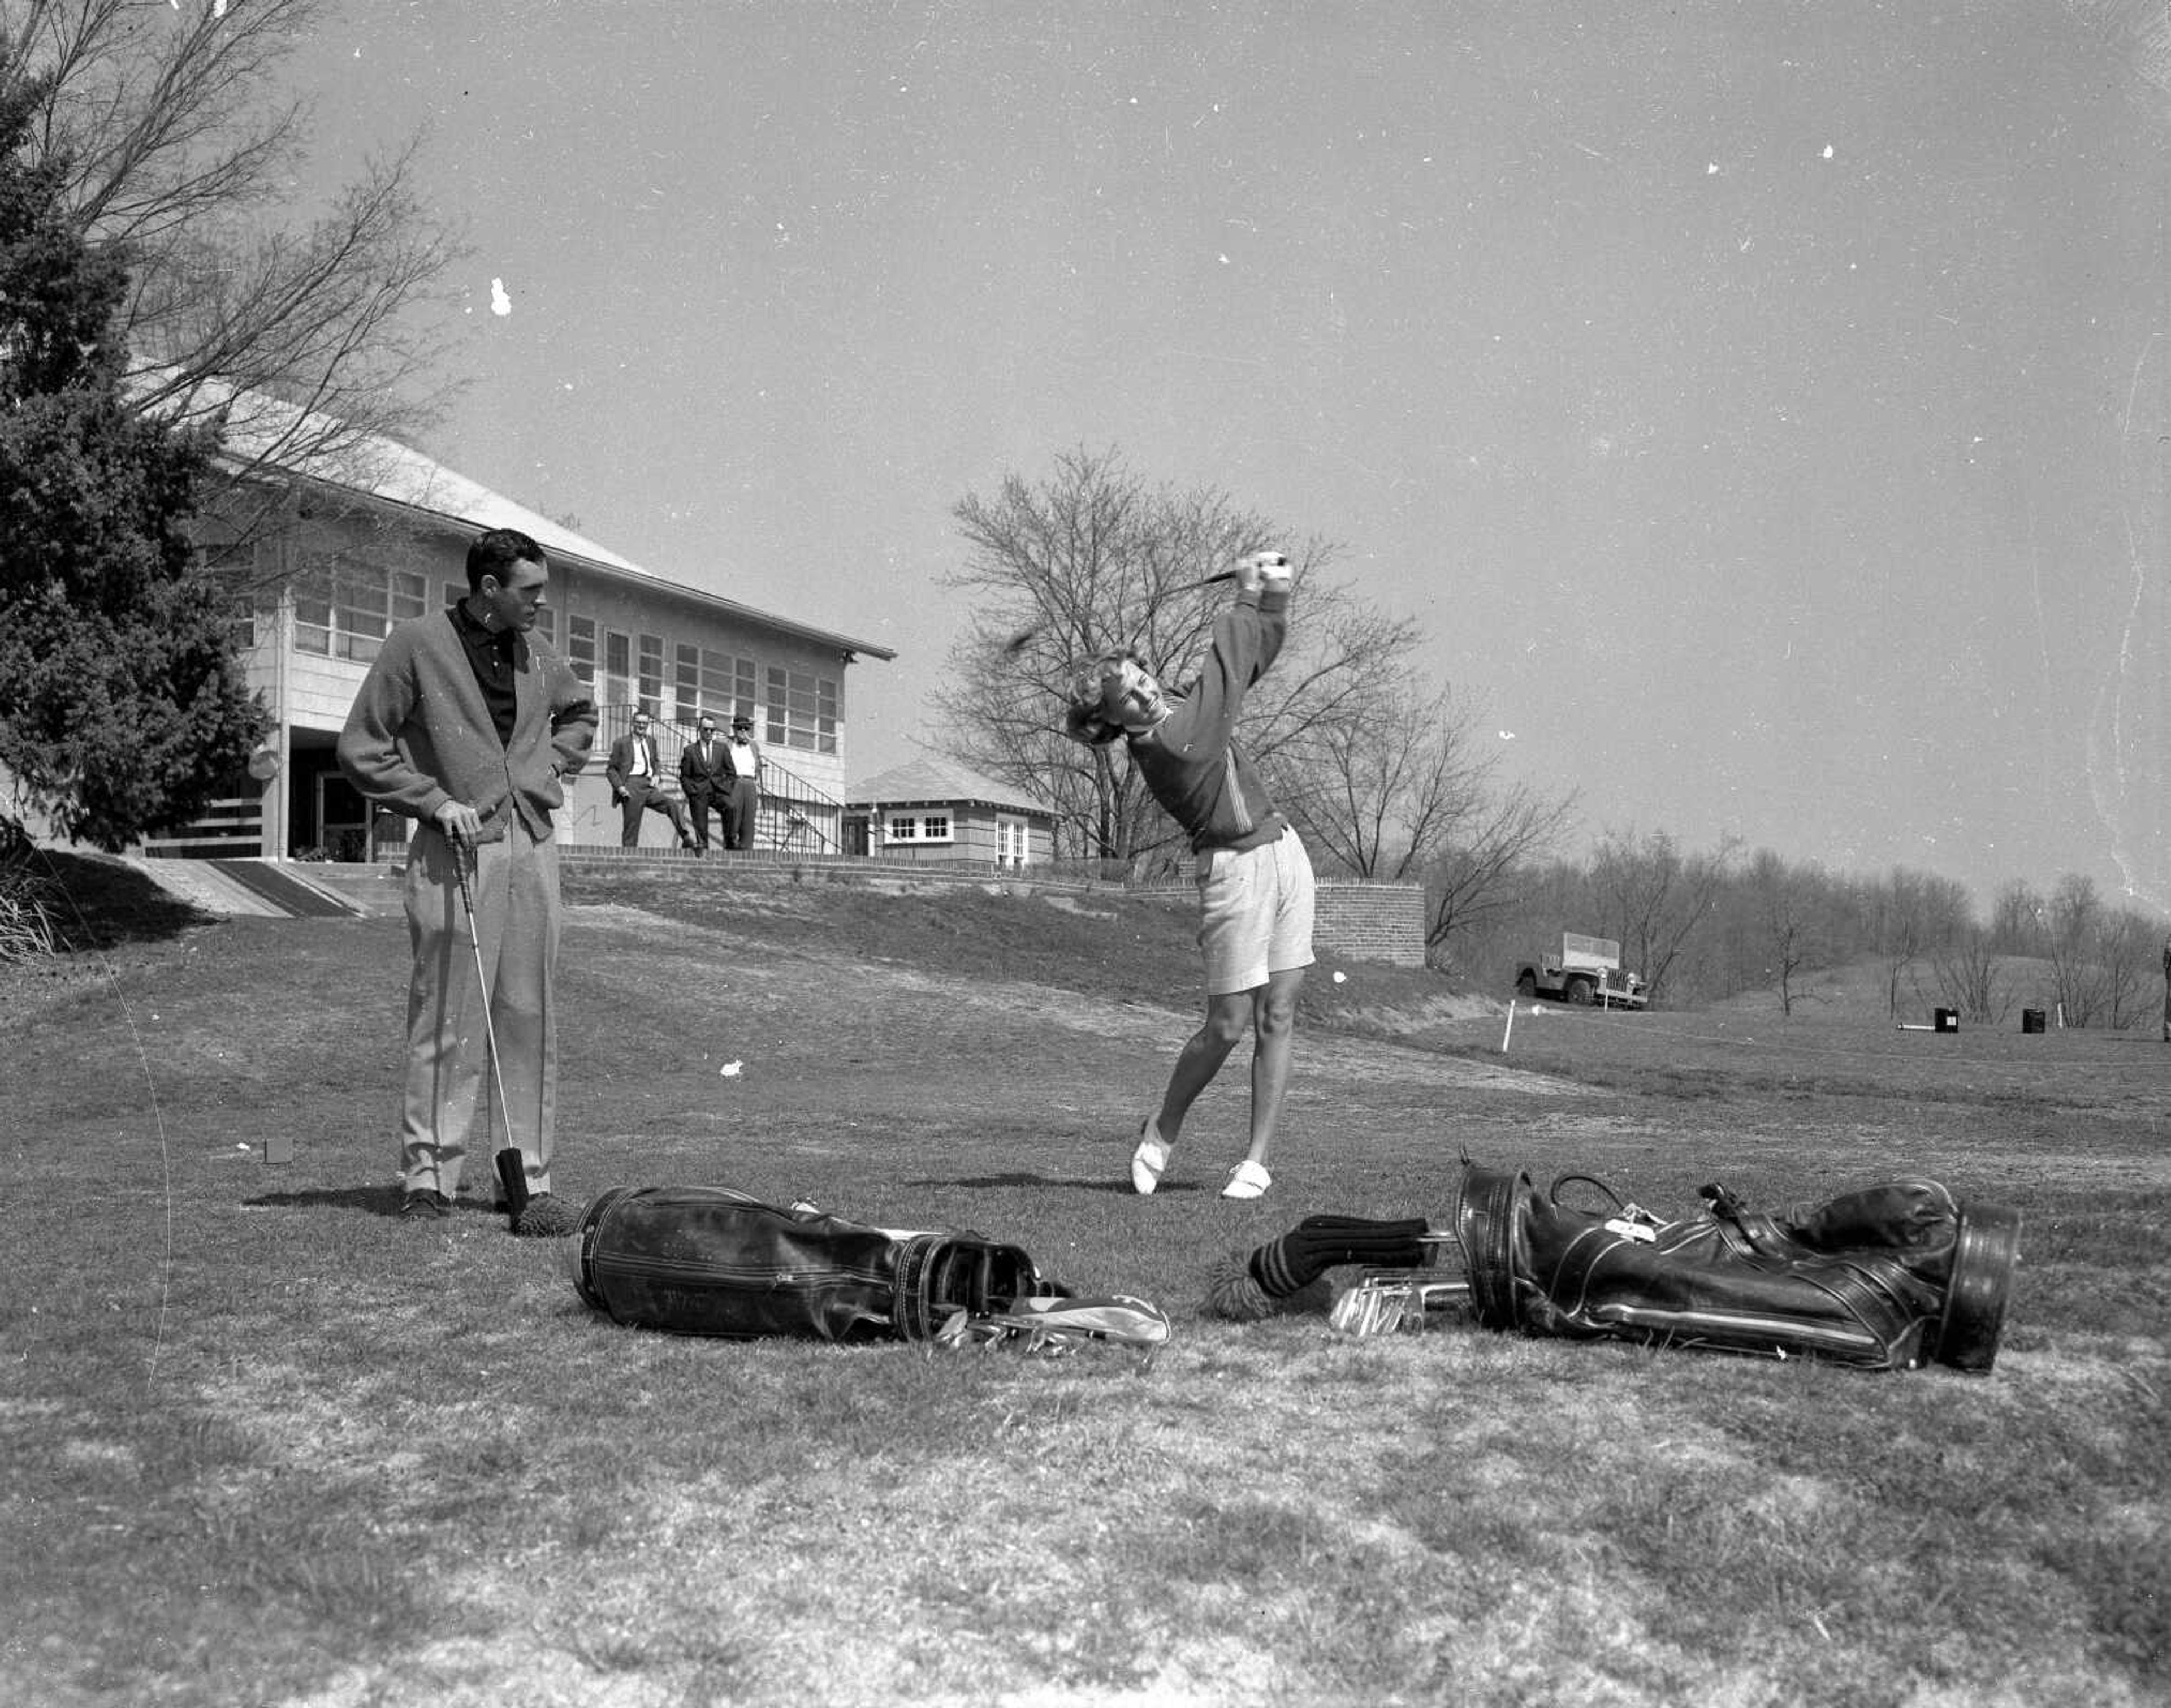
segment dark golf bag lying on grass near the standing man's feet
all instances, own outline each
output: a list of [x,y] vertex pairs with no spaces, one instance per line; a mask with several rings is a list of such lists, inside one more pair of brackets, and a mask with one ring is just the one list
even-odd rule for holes
[[582,1211],[573,1285],[612,1322],[682,1335],[929,1341],[957,1313],[1064,1289],[973,1233],[894,1233],[729,1187],[614,1187]]

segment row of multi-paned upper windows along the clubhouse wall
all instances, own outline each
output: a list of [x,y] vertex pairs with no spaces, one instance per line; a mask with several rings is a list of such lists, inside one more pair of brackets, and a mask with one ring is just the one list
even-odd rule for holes
[[[460,603],[465,595],[465,582],[439,588],[445,606]],[[367,664],[393,625],[421,616],[428,599],[428,577],[412,571],[382,573],[347,564],[304,571],[295,577],[293,647],[300,653]],[[536,619],[536,632],[551,649],[560,647],[558,616],[543,606]],[[564,619],[562,651],[580,679],[599,688],[604,705],[640,705],[680,723],[693,723],[703,712],[719,723],[760,716],[771,747],[836,753],[834,677],[786,671],[779,664],[764,671],[751,658],[734,658],[714,647],[684,640],[666,647],[656,634],[597,632],[591,616]],[[760,688],[769,690],[766,705],[758,705]]]

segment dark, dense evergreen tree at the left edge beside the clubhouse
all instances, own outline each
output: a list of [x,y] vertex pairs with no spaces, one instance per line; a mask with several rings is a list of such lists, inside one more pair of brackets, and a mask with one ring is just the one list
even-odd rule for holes
[[213,434],[126,406],[126,260],[30,161],[41,95],[0,41],[0,773],[15,810],[119,851],[195,818],[263,712],[185,527]]

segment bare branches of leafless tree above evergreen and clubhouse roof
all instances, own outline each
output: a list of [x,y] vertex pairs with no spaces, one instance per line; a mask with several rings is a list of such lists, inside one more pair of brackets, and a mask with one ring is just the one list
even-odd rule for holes
[[415,145],[293,211],[306,111],[276,74],[317,0],[0,0],[0,33],[50,78],[30,163],[63,174],[93,245],[117,245],[115,321],[135,408],[219,421],[239,473],[347,473],[430,404],[436,345],[406,310],[458,254],[417,193]]

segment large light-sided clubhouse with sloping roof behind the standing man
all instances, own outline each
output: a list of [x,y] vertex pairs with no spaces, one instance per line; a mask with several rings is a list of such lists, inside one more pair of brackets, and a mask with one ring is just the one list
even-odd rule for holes
[[[230,423],[228,443],[276,434],[278,408]],[[673,788],[701,714],[723,727],[751,716],[762,749],[756,846],[842,851],[847,671],[894,651],[643,569],[393,441],[271,462],[274,480],[237,484],[198,538],[234,586],[237,651],[274,725],[250,775],[185,831],[145,842],[145,855],[397,857],[408,820],[369,812],[332,749],[384,636],[465,595],[467,543],[488,527],[517,527],[549,553],[538,634],[601,708],[597,753],[558,816],[569,844],[619,844],[601,760],[638,708],[656,721]],[[673,842],[662,816],[645,818],[645,844]]]

